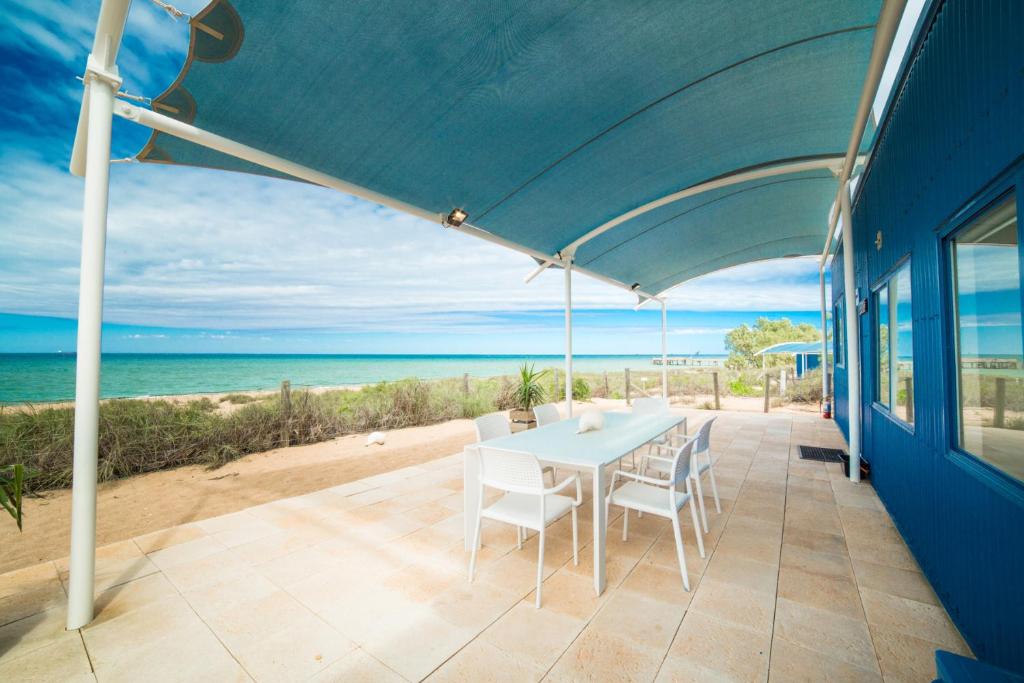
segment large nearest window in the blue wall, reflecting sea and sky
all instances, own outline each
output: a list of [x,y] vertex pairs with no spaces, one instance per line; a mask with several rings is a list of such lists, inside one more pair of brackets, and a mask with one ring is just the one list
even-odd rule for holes
[[1017,203],[952,242],[959,445],[1024,479],[1024,347]]

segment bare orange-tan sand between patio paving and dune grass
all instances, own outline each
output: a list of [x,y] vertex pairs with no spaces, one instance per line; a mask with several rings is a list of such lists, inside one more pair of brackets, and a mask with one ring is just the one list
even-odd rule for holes
[[[195,397],[168,398],[187,400]],[[702,400],[673,401],[673,404],[694,409],[699,408]],[[595,405],[602,410],[622,410],[626,401],[596,398],[589,403],[577,403],[574,410]],[[763,399],[723,397],[722,410],[761,412]],[[794,403],[772,408],[772,412],[780,413],[808,411],[816,412],[817,405]],[[322,443],[254,454],[216,470],[181,467],[101,483],[96,544],[103,546],[443,458],[460,453],[473,440],[472,421],[453,420],[396,429],[387,433],[384,445],[367,446],[366,434],[350,434]],[[25,513],[25,531],[20,533],[10,519],[0,518],[0,548],[3,549],[0,573],[68,555],[70,489],[46,492],[43,498],[27,499]]]

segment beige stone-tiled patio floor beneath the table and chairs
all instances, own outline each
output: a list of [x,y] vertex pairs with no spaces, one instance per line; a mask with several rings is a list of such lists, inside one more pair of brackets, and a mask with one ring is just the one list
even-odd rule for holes
[[716,423],[722,514],[707,492],[705,560],[682,516],[690,593],[668,523],[634,517],[624,543],[614,509],[601,597],[567,517],[542,609],[511,527],[484,526],[469,585],[456,454],[104,547],[80,632],[65,563],[0,575],[0,681],[931,681],[966,645],[870,485],[800,443],[842,439],[814,416]]

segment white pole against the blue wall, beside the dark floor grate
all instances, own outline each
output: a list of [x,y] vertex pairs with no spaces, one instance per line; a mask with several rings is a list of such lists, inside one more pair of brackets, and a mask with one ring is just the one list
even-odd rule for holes
[[857,281],[854,272],[853,219],[850,181],[840,193],[843,214],[843,296],[846,299],[846,386],[850,421],[850,481],[860,481],[860,326],[857,321]]

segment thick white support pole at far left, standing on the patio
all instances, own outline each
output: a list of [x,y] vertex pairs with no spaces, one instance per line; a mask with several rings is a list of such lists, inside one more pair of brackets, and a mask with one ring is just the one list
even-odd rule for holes
[[75,456],[72,480],[68,628],[92,621],[96,564],[96,469],[99,441],[99,350],[103,318],[103,266],[111,124],[115,87],[91,77],[82,267],[79,273],[78,347],[75,357]]

